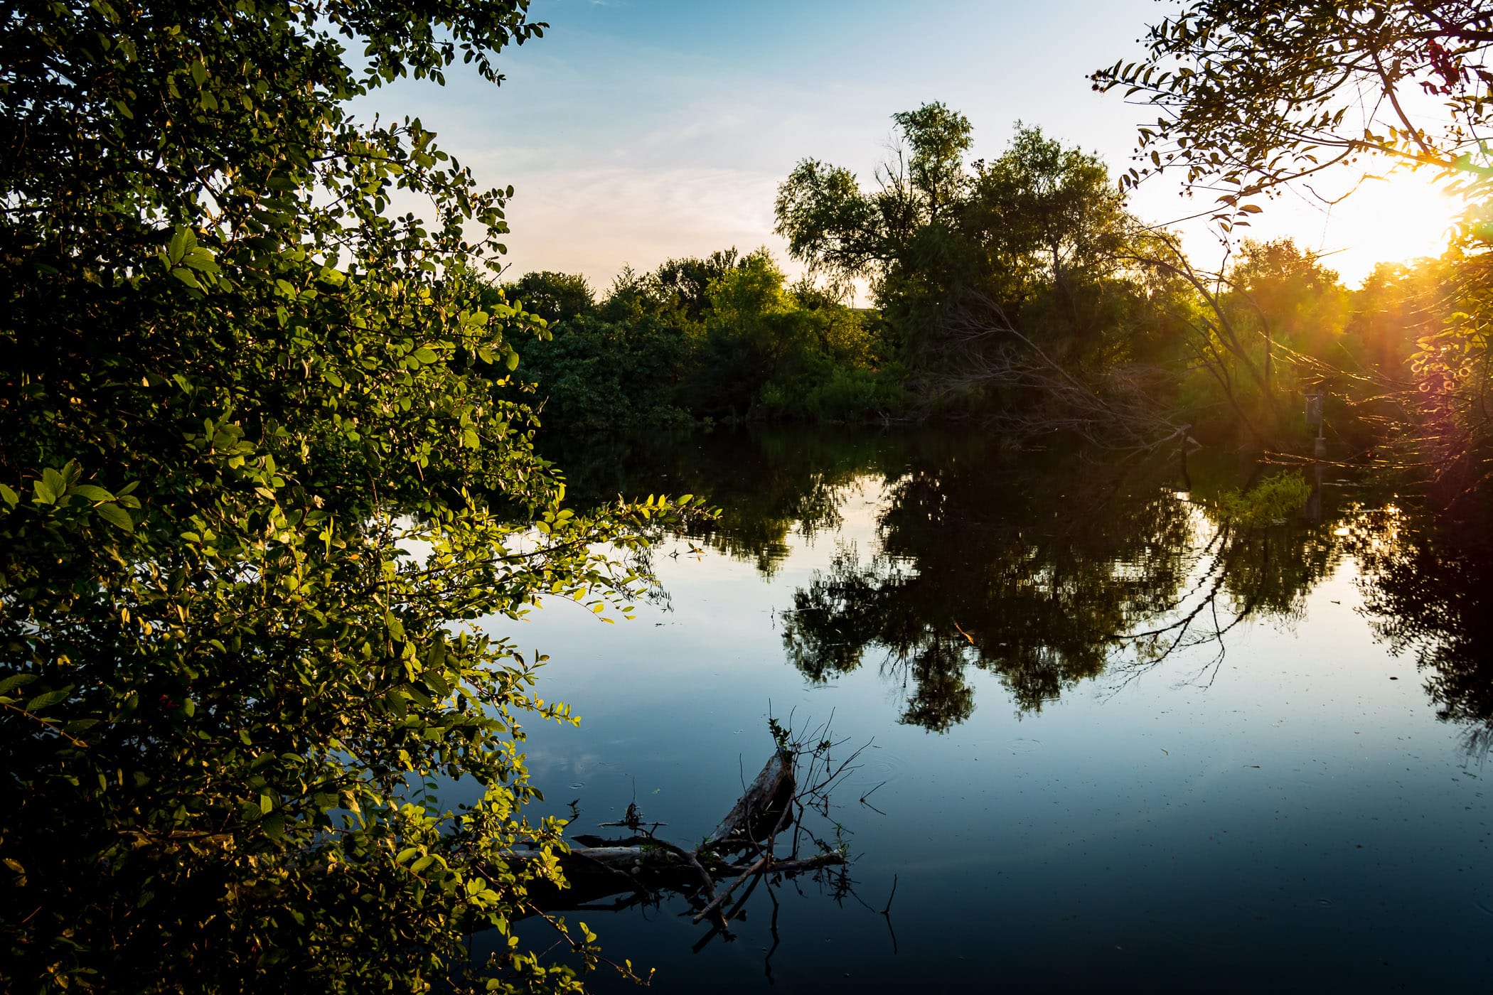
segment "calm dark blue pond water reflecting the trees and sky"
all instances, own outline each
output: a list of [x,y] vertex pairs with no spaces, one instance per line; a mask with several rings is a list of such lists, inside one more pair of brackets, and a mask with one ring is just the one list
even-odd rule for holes
[[636,798],[691,843],[769,709],[870,744],[832,813],[853,894],[758,889],[699,950],[678,898],[570,913],[655,991],[1493,991],[1486,516],[1329,468],[1227,527],[1250,467],[973,434],[560,458],[576,492],[724,518],[660,547],[633,622],[505,622],[582,716],[532,729],[557,813]]

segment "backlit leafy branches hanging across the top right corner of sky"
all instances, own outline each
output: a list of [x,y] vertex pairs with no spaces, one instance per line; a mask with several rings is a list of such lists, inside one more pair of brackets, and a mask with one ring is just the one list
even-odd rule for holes
[[1145,43],[1093,75],[1096,90],[1159,110],[1139,136],[1150,166],[1121,182],[1182,169],[1188,185],[1223,191],[1226,224],[1259,210],[1262,191],[1365,157],[1471,185],[1493,176],[1478,137],[1493,112],[1493,12],[1480,3],[1199,0]]

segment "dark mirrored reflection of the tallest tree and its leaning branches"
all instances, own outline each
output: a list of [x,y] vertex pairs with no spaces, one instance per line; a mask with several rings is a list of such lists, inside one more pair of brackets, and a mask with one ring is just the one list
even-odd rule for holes
[[969,667],[1039,712],[1271,615],[1293,624],[1341,556],[1330,527],[1245,528],[1176,494],[1173,468],[1079,455],[966,453],[891,479],[879,550],[841,547],[794,594],[784,644],[824,682],[879,655],[902,721],[945,731],[973,712]]

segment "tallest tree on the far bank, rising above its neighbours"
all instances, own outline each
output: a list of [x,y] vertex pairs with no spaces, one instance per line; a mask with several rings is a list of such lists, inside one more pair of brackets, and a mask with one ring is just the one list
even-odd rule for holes
[[875,188],[803,160],[778,188],[776,230],[811,273],[870,280],[884,349],[926,410],[1093,437],[1094,419],[1154,407],[1166,391],[1133,367],[1166,318],[1129,261],[1136,225],[1103,163],[1018,124],[1000,157],[966,164],[963,115],[893,119],[911,154],[894,149]]

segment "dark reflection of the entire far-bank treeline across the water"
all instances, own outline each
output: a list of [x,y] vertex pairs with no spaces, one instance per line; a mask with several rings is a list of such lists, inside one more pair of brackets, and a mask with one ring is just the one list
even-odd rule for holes
[[1163,662],[1206,683],[1229,633],[1297,625],[1312,588],[1353,558],[1375,634],[1415,655],[1471,749],[1493,746],[1493,516],[1466,500],[1456,515],[1386,512],[1388,491],[1308,467],[1305,507],[1247,525],[1218,510],[1251,470],[1226,455],[1145,464],[951,431],[654,436],[546,455],[597,500],[706,494],[723,516],[690,539],[767,577],[790,536],[833,534],[851,494],[879,491],[875,544],[839,544],[794,592],[784,649],[814,683],[878,667],[900,719],[930,731],[973,713],[972,667],[1000,679],[1018,715]]

